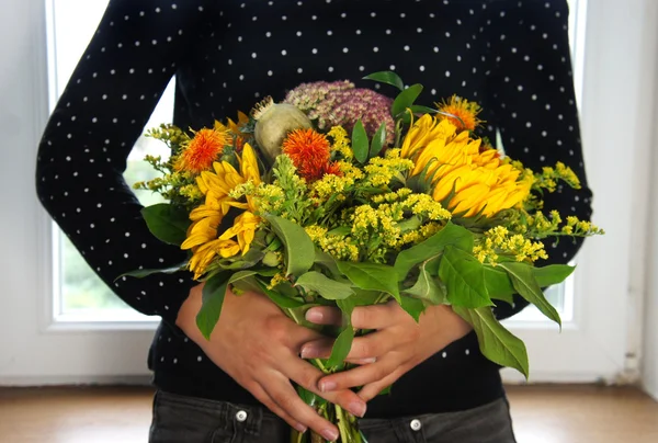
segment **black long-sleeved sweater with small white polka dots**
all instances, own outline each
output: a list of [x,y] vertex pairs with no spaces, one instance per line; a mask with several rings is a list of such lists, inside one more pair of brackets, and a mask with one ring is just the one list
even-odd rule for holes
[[[113,0],[45,129],[38,196],[91,268],[135,309],[161,316],[149,354],[169,391],[257,401],[174,327],[189,275],[117,275],[179,263],[185,254],[147,230],[122,172],[175,75],[174,123],[201,128],[282,100],[298,83],[395,70],[432,104],[456,93],[484,106],[485,135],[534,170],[564,161],[582,179],[546,209],[590,216],[567,37],[566,0]],[[382,87],[393,95],[394,90]],[[560,241],[551,262],[579,243]],[[508,317],[524,304],[500,306]],[[368,417],[453,411],[503,395],[499,368],[474,334],[405,375]]]

